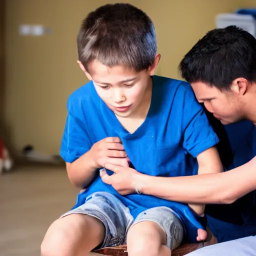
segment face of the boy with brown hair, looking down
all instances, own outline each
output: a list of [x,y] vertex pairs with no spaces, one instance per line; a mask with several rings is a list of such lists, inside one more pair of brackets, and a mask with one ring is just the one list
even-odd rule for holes
[[148,69],[135,71],[123,66],[108,67],[97,60],[88,65],[87,77],[93,81],[99,97],[118,116],[129,117],[148,104],[148,95],[151,95],[153,75],[159,57],[156,55],[155,63]]

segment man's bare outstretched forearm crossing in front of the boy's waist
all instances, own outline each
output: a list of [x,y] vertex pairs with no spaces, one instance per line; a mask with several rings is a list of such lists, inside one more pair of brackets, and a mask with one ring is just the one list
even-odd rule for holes
[[142,193],[172,201],[231,203],[256,189],[254,158],[242,166],[222,173],[182,177],[140,175],[137,183]]

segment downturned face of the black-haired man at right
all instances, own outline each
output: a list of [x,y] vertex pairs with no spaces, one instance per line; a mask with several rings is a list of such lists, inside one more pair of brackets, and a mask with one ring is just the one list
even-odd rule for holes
[[203,103],[205,108],[213,113],[221,123],[229,124],[245,118],[239,94],[231,89],[220,91],[215,86],[211,87],[200,81],[192,82],[191,86],[198,102]]

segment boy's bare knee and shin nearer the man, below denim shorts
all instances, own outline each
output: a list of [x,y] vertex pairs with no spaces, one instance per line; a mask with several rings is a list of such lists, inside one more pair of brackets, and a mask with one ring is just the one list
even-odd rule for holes
[[127,234],[129,256],[170,256],[170,249],[165,244],[165,231],[153,221],[138,222]]

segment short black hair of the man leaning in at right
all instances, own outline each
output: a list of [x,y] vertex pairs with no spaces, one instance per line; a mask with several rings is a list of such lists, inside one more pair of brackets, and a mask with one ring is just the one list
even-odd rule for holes
[[237,26],[210,30],[185,54],[179,72],[189,83],[220,90],[228,90],[238,77],[256,81],[256,38]]

